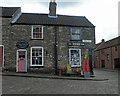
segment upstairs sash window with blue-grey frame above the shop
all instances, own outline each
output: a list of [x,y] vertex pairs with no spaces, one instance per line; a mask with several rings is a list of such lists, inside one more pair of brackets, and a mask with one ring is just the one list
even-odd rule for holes
[[71,40],[81,40],[81,27],[71,27]]

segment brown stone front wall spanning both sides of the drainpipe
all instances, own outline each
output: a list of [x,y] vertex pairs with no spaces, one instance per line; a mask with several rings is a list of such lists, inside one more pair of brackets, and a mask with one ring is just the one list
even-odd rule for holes
[[[13,71],[16,71],[16,52],[19,49],[16,47],[17,42],[26,41],[29,43],[29,47],[26,48],[28,72],[53,74],[55,73],[56,68],[55,59],[57,59],[57,70],[59,67],[65,69],[67,67],[67,64],[69,64],[69,48],[89,49],[94,48],[95,43],[94,28],[82,28],[82,39],[92,40],[91,43],[84,43],[84,46],[68,46],[68,42],[83,43],[82,40],[71,41],[69,26],[44,26],[44,36],[42,40],[32,39],[32,25],[6,25],[3,26],[3,32],[3,43],[5,45],[5,68]],[[85,34],[87,34],[87,36]],[[55,52],[55,44],[57,47],[57,53]],[[30,49],[31,47],[37,46],[44,48],[43,67],[30,66]],[[58,58],[55,57],[55,53],[57,56],[64,55],[67,56],[67,58],[64,60],[58,60]]]

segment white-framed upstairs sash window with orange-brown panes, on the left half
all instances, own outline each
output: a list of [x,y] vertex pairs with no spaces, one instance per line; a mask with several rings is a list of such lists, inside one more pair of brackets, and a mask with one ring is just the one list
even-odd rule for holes
[[43,26],[32,26],[32,39],[43,39]]

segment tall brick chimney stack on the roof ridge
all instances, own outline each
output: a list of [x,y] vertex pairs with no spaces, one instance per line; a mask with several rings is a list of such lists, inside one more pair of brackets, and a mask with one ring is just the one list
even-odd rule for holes
[[56,1],[51,0],[49,3],[49,17],[56,17]]

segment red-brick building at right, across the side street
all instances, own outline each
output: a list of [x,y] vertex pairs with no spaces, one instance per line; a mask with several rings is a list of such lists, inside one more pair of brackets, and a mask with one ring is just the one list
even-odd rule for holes
[[102,40],[96,44],[94,53],[96,68],[116,69],[120,68],[120,36],[109,41]]

